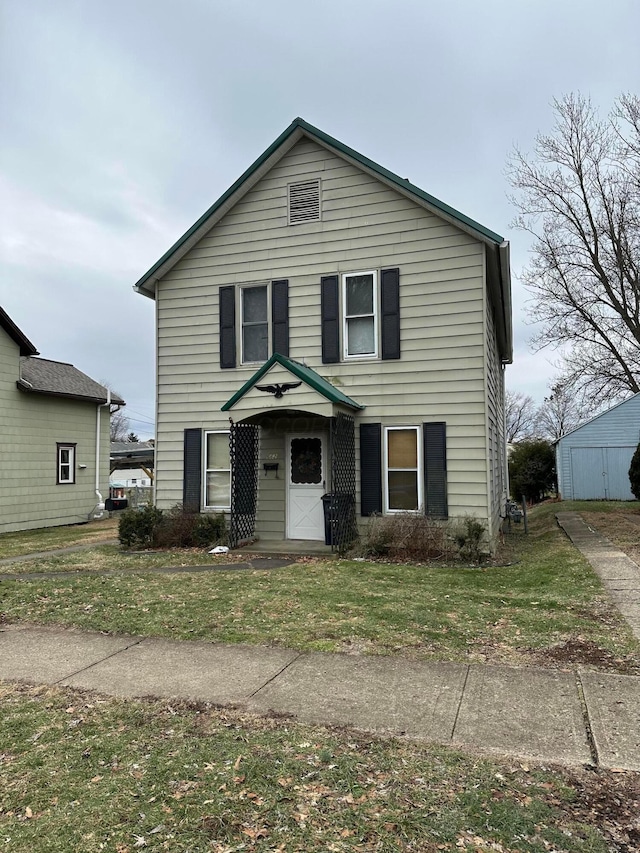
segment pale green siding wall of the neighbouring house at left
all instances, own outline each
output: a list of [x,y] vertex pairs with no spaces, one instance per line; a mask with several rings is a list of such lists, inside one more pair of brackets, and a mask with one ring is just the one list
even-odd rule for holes
[[[87,521],[97,503],[96,405],[18,391],[19,363],[18,347],[0,330],[0,533]],[[105,411],[100,484],[108,497]],[[77,445],[75,484],[56,483],[57,442]]]

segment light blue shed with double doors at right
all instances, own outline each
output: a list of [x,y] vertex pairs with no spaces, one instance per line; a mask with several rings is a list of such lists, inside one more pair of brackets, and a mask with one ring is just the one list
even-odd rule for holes
[[563,500],[634,500],[629,466],[640,441],[640,394],[596,415],[556,442]]

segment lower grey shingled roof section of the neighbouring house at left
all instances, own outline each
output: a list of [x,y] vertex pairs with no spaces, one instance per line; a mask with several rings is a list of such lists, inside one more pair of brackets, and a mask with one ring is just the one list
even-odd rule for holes
[[[106,403],[109,391],[78,370],[72,364],[50,361],[46,358],[25,358],[21,364],[21,378],[17,386],[21,391],[48,394],[54,397],[70,397],[94,403]],[[110,402],[124,405],[124,400],[112,393]]]

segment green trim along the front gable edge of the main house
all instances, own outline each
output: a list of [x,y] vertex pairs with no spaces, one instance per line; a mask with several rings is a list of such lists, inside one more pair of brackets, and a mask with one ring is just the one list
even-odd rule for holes
[[[461,225],[465,226],[465,228],[471,229],[474,231],[478,237],[482,240],[489,240],[491,243],[495,243],[496,245],[500,245],[504,242],[504,238],[499,234],[496,234],[495,231],[491,231],[489,228],[485,228],[484,225],[481,225],[479,222],[476,222],[474,219],[471,219],[468,216],[465,216],[463,213],[460,213],[459,210],[456,210],[454,207],[451,207],[448,204],[445,204],[440,199],[437,199],[435,196],[430,195],[429,193],[421,190],[420,187],[415,186],[411,183],[411,181],[406,178],[401,178],[396,175],[394,172],[389,171],[389,169],[385,169],[384,166],[380,166],[378,163],[370,160],[368,157],[364,157],[358,151],[355,151],[353,148],[349,148],[348,145],[344,145],[337,139],[334,139],[333,136],[329,136],[328,133],[320,130],[317,127],[314,127],[311,124],[308,124],[304,119],[296,118],[294,119],[289,127],[284,130],[280,136],[264,151],[257,160],[255,160],[249,168],[240,175],[237,181],[233,183],[229,189],[223,193],[220,198],[214,202],[211,207],[202,214],[202,216],[195,222],[188,231],[177,240],[171,248],[164,253],[164,255],[157,261],[151,269],[149,269],[143,276],[140,278],[136,284],[134,285],[134,289],[138,290],[141,293],[145,292],[145,285],[149,282],[150,279],[153,278],[155,273],[164,266],[167,261],[171,259],[171,257],[183,246],[190,237],[192,237],[199,228],[201,228],[207,220],[213,216],[216,211],[222,207],[225,202],[233,196],[235,192],[237,192],[242,185],[256,172],[260,166],[263,165],[277,150],[283,145],[289,137],[295,133],[297,130],[303,131],[311,137],[315,137],[320,142],[328,145],[330,148],[339,151],[345,156],[351,158],[355,162],[359,163],[361,166],[370,169],[372,172],[380,175],[380,177],[385,178],[390,183],[395,184],[399,189],[409,192],[411,195],[415,196],[417,199],[420,199],[423,202],[426,202],[430,207],[435,210],[441,211],[446,216],[451,219],[459,222]],[[150,295],[148,290],[145,295]]]

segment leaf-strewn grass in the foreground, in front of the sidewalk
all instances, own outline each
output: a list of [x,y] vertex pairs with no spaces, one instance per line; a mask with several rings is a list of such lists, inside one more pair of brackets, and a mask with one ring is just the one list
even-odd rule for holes
[[500,762],[207,705],[9,685],[0,702],[0,847],[14,853],[640,843],[634,773]]

